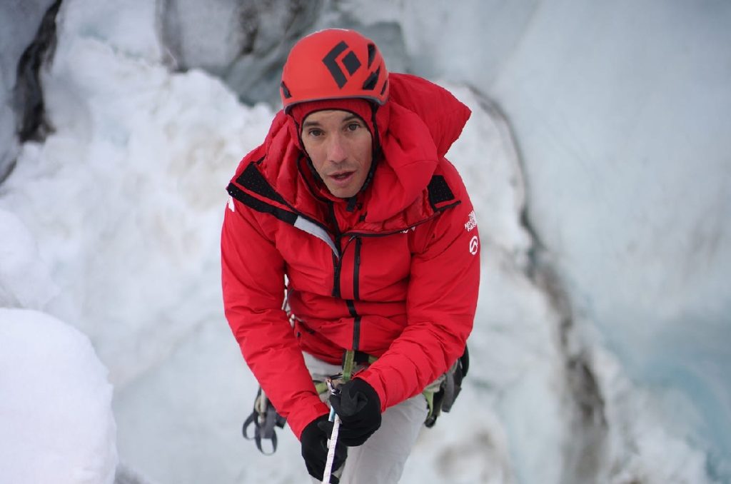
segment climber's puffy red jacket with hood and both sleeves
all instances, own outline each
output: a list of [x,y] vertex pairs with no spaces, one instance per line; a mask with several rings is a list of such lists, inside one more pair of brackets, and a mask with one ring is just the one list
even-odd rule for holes
[[[318,186],[281,111],[228,187],[226,317],[298,437],[327,413],[303,351],[335,364],[346,349],[378,357],[357,377],[386,409],[443,374],[472,329],[479,238],[460,175],[444,158],[470,112],[420,77],[392,74],[390,83],[377,118],[383,157],[355,210]],[[285,276],[294,328],[282,310]]]

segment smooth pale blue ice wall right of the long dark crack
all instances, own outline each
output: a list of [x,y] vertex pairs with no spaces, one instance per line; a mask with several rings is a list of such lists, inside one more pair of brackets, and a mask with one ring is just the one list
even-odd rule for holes
[[572,304],[631,377],[692,401],[659,412],[727,479],[730,24],[726,2],[545,2],[489,85]]

